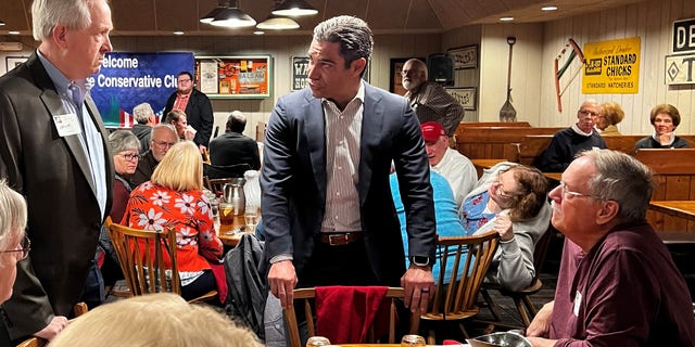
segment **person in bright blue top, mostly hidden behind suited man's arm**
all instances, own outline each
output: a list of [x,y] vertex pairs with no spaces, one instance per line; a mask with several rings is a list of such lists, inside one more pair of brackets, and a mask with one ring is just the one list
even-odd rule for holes
[[[395,204],[395,213],[399,215],[399,221],[401,222],[403,247],[405,249],[405,254],[408,254],[408,234],[405,224],[405,208],[401,201],[399,179],[395,174],[391,174],[391,176],[389,176],[389,180],[391,182],[391,195],[393,196],[393,203]],[[432,184],[434,197],[434,217],[437,219],[438,236],[464,236],[464,228],[456,215],[456,203],[454,202],[454,194],[452,193],[452,189],[448,187],[448,182],[443,176],[430,171],[430,184]],[[406,257],[406,266],[410,266],[408,257]],[[446,268],[451,269],[453,266],[454,257],[448,257]],[[439,260],[432,266],[432,274],[435,278],[439,275]],[[448,283],[450,278],[451,274],[446,272],[444,275],[444,283]]]

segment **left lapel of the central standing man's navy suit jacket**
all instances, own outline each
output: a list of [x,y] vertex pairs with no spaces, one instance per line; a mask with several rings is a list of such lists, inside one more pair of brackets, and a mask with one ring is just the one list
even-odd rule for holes
[[302,133],[306,137],[308,155],[312,160],[312,169],[316,185],[321,194],[321,203],[326,202],[326,119],[321,100],[307,93],[307,105],[302,124]]

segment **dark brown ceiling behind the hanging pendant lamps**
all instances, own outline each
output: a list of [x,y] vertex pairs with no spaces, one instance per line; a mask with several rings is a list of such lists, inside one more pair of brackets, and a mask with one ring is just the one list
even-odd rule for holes
[[[239,0],[239,8],[262,22],[276,0]],[[498,23],[514,16],[514,23],[548,22],[596,12],[644,0],[307,0],[319,12],[298,17],[298,30],[270,31],[267,35],[308,33],[319,22],[351,14],[369,23],[375,34],[443,33],[469,24]],[[227,29],[202,24],[199,18],[217,7],[218,0],[111,0],[114,36],[249,35],[253,29]],[[0,35],[18,30],[31,35],[31,0],[0,0]],[[543,5],[558,11],[543,13]]]

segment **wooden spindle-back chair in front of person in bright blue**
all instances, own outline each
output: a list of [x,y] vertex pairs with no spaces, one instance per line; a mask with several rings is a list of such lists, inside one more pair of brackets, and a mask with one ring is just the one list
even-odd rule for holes
[[[428,344],[435,344],[435,325],[458,321],[464,336],[469,337],[463,321],[478,314],[478,293],[485,272],[497,249],[500,236],[495,231],[482,235],[439,237],[439,273],[433,273],[435,290],[428,312],[420,316],[424,329],[429,326]],[[454,257],[453,266],[447,259]],[[450,283],[444,283],[445,274]]]

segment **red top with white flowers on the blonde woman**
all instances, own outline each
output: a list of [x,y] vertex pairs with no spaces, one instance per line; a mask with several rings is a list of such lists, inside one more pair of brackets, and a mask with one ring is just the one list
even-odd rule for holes
[[208,261],[217,264],[223,255],[202,191],[177,192],[147,181],[130,194],[122,223],[141,230],[174,228],[179,272],[210,269]]

